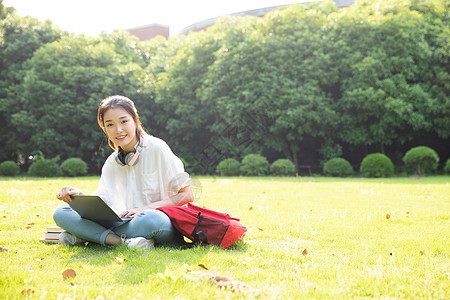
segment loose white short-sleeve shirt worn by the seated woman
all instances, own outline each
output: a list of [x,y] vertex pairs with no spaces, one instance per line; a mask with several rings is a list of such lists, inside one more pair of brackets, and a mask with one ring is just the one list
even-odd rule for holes
[[100,196],[117,214],[165,200],[191,185],[183,163],[166,142],[144,134],[142,144],[134,166],[119,165],[115,160],[117,150],[103,165],[93,194]]

